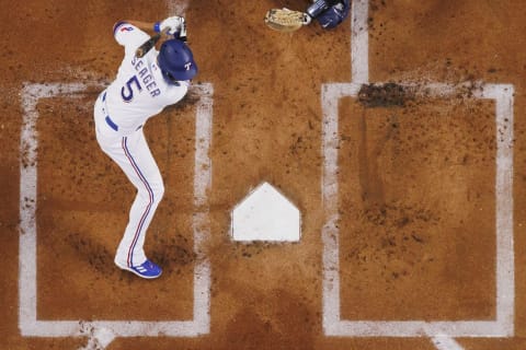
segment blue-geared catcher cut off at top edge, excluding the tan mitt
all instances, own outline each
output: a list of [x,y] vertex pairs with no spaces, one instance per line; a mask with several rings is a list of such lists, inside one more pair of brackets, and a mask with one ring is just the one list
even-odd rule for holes
[[324,30],[335,28],[348,15],[351,0],[315,0],[307,9],[307,19],[315,19]]

